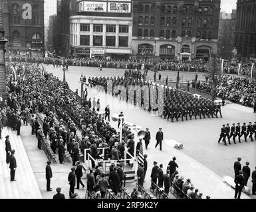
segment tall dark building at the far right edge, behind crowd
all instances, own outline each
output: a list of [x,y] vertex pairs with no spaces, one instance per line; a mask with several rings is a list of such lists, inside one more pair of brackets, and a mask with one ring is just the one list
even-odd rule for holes
[[235,42],[240,58],[256,58],[256,1],[237,0]]

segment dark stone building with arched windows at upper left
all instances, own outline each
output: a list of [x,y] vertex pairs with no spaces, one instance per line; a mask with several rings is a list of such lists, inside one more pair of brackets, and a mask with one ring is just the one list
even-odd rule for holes
[[7,52],[44,55],[44,1],[3,0]]

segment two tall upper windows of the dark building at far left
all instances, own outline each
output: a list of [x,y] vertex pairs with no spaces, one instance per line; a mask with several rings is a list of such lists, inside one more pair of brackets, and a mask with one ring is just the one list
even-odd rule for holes
[[[32,24],[34,26],[38,26],[40,23],[39,5],[34,5],[32,7]],[[21,25],[21,7],[17,4],[11,5],[11,24]]]

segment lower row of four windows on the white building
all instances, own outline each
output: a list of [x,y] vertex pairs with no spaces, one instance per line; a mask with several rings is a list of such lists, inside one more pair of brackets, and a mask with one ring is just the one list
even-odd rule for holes
[[[128,36],[120,36],[120,47],[128,47]],[[93,46],[102,46],[103,36],[93,36]],[[90,46],[90,35],[80,35],[80,46]],[[106,46],[116,46],[116,36],[106,36]]]

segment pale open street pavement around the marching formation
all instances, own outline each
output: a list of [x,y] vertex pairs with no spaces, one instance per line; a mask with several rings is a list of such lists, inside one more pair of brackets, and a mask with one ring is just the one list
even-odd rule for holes
[[[53,73],[59,79],[63,79],[62,68],[53,68],[53,66],[46,66],[47,72]],[[98,68],[88,68],[88,67],[68,67],[68,72],[66,72],[66,81],[68,82],[70,89],[75,91],[78,89],[80,93],[80,75],[83,74],[90,78],[93,76],[123,76],[124,70],[119,69],[107,69],[104,68],[102,72]],[[182,73],[184,79],[193,79],[195,73]],[[199,79],[203,78],[203,74],[198,74]],[[176,76],[175,73],[170,72],[168,76]],[[155,149],[154,136],[158,131],[158,127],[162,127],[164,132],[164,140],[177,140],[178,142],[184,144],[184,149],[180,152],[186,154],[190,158],[193,158],[203,166],[212,170],[216,176],[220,179],[224,176],[234,177],[233,163],[237,160],[237,157],[241,157],[242,166],[245,162],[249,161],[251,170],[253,170],[256,161],[256,142],[244,142],[241,138],[241,143],[231,144],[224,146],[223,143],[218,144],[217,140],[219,138],[220,129],[223,124],[229,123],[249,123],[249,121],[255,121],[256,115],[252,108],[243,107],[241,105],[236,105],[233,103],[225,105],[221,108],[223,118],[211,118],[211,119],[197,119],[192,121],[179,121],[171,123],[163,118],[150,115],[147,111],[142,109],[134,108],[132,105],[127,107],[126,103],[119,101],[116,98],[112,98],[102,92],[95,91],[94,89],[88,88],[88,97],[96,97],[100,99],[101,111],[104,111],[106,103],[110,104],[110,113],[120,113],[124,111],[124,115],[128,117],[127,121],[135,123],[136,125],[141,125],[142,129],[148,127],[152,134],[152,140],[148,150],[144,150],[144,153],[148,154],[149,169],[152,168],[152,163],[154,160],[158,163],[164,164],[164,172],[166,166],[171,158],[174,156],[174,149],[170,146],[167,141],[163,143],[163,151],[160,152],[159,149]],[[110,115],[111,115],[110,114]],[[116,123],[111,123],[113,127],[116,127]],[[157,156],[156,156],[157,154]],[[179,153],[180,154],[180,153]],[[176,155],[177,157],[177,155]],[[179,158],[177,157],[177,162],[179,164]],[[183,162],[182,162],[183,164]],[[180,166],[183,165],[180,162]],[[184,167],[183,167],[184,169]],[[186,170],[192,170],[193,167],[186,167]],[[147,178],[149,177],[146,176]],[[190,178],[190,176],[186,176]],[[195,182],[195,180],[192,181]],[[210,183],[210,182],[209,182]],[[251,178],[248,181],[248,186],[251,188]],[[199,187],[200,189],[200,187]]]

